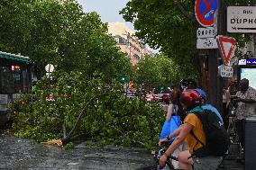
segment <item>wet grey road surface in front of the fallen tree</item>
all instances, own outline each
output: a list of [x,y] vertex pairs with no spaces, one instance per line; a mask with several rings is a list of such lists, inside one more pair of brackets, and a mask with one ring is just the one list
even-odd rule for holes
[[87,147],[79,144],[64,150],[57,146],[32,144],[0,132],[0,169],[31,170],[135,170],[151,166],[153,159],[145,149]]

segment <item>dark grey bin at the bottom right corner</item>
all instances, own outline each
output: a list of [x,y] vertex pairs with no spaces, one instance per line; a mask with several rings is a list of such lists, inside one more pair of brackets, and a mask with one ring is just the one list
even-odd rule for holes
[[245,120],[245,169],[254,170],[256,167],[256,115]]

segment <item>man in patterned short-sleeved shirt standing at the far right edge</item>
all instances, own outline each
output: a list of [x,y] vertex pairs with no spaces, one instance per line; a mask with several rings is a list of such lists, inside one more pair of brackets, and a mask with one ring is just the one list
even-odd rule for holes
[[239,83],[239,91],[232,100],[236,103],[234,111],[236,116],[235,127],[242,148],[244,148],[244,123],[245,118],[254,115],[256,110],[256,90],[249,86],[249,80],[243,78]]

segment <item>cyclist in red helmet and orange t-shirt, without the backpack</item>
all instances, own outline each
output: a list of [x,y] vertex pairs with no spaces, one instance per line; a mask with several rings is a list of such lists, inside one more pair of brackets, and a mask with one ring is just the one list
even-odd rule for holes
[[[187,111],[191,111],[197,106],[202,105],[202,97],[197,93],[196,90],[186,90],[180,96],[180,103],[183,108]],[[192,132],[197,137],[197,139],[192,135]],[[217,166],[221,163],[219,157],[200,157],[200,159],[193,160],[194,151],[198,148],[202,148],[206,144],[206,135],[203,130],[202,122],[197,118],[196,114],[187,114],[184,124],[170,134],[167,139],[178,135],[176,139],[171,143],[167,151],[160,157],[160,166],[165,166],[167,158],[174,152],[179,145],[187,141],[188,150],[182,151],[178,154],[178,166],[180,169],[191,170],[192,165],[194,165],[195,170],[207,169],[215,170]],[[198,142],[200,141],[200,142]],[[202,143],[201,143],[202,142]]]

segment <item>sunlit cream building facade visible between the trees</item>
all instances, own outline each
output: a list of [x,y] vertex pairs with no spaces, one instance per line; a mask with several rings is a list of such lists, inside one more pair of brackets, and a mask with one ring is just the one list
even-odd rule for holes
[[129,29],[125,22],[108,22],[108,32],[112,34],[120,50],[128,55],[133,66],[146,54],[152,55],[152,51],[141,40],[133,36],[134,31]]

